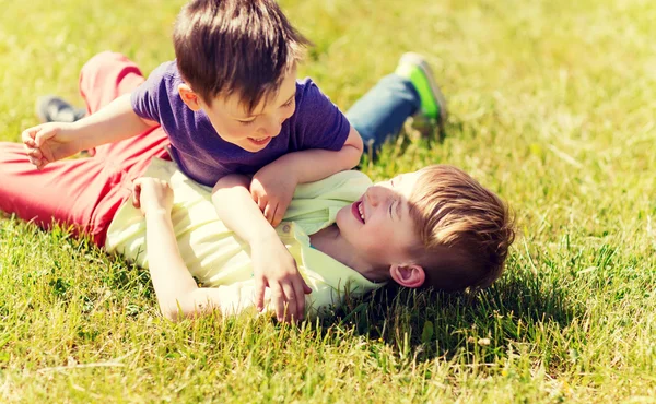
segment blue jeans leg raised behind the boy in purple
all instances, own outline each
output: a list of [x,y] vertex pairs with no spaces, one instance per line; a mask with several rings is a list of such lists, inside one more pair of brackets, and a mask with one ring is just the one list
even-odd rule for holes
[[364,153],[377,150],[396,135],[408,117],[419,110],[419,94],[409,80],[397,74],[383,78],[347,112],[347,118],[364,141]]

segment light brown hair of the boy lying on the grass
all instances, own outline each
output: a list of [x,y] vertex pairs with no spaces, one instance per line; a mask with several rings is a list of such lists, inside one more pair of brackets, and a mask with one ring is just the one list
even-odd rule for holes
[[503,272],[515,239],[507,205],[465,171],[447,165],[420,170],[410,214],[422,241],[425,287],[487,287]]

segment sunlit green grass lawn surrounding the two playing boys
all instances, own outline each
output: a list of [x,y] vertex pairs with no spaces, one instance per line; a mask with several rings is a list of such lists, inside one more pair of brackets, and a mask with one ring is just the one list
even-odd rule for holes
[[[172,58],[180,4],[0,0],[0,140],[36,123],[37,95],[81,103],[79,70],[101,50],[144,72]],[[145,272],[0,219],[0,401],[656,402],[656,3],[282,4],[316,44],[302,74],[344,109],[401,52],[426,55],[446,138],[408,130],[365,171],[450,163],[501,193],[522,230],[505,275],[298,328],[173,324]]]

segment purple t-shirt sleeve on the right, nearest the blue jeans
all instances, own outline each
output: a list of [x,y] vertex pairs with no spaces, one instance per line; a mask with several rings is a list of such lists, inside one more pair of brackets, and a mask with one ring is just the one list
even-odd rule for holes
[[311,80],[297,84],[295,134],[300,148],[339,151],[344,145],[351,123],[342,111]]

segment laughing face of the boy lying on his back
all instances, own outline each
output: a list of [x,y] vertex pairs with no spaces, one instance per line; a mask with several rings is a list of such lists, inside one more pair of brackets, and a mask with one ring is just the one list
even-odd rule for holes
[[368,262],[389,266],[412,262],[421,245],[408,201],[419,173],[399,175],[370,187],[354,203],[337,214],[337,226]]

